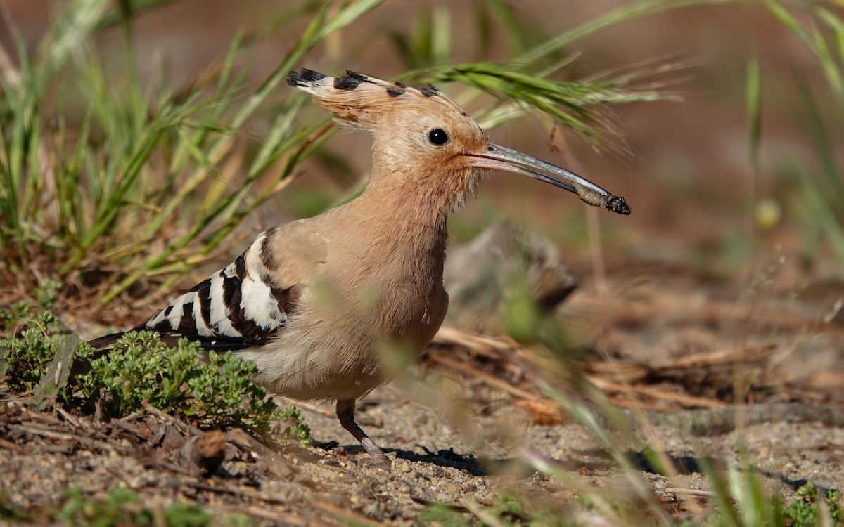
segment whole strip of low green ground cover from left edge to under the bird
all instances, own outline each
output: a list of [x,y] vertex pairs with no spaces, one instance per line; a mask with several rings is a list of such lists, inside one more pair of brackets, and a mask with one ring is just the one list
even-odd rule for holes
[[[63,349],[68,340],[49,311],[25,324],[29,327],[17,334],[8,331],[0,340],[0,377],[5,375],[6,387],[14,393],[53,396],[56,404],[68,407],[91,408],[100,401],[111,417],[143,410],[149,403],[201,428],[245,428],[271,441],[297,439],[306,444],[309,439],[300,411],[267,398],[266,390],[253,380],[255,364],[230,352],[209,352],[203,360],[195,342],[182,339],[169,347],[157,333],[141,331],[128,333],[110,352],[95,357],[87,344],[76,347],[78,339],[71,349]],[[75,359],[70,358],[73,348]],[[68,378],[74,361],[87,362],[88,371]],[[62,364],[61,373],[48,374],[57,363]],[[54,378],[59,385],[51,387]]]

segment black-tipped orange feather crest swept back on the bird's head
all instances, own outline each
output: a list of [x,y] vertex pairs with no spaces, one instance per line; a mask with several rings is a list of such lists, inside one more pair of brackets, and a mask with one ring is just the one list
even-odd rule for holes
[[314,102],[337,116],[338,121],[363,128],[371,128],[395,112],[456,111],[469,117],[463,108],[431,84],[415,89],[349,70],[344,77],[328,77],[306,68],[288,73],[287,83],[311,94]]

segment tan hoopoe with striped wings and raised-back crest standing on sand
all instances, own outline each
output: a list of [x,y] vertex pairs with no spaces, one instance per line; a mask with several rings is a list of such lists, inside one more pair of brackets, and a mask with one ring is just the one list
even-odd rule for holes
[[[630,207],[579,175],[491,143],[431,84],[306,68],[287,83],[338,124],[371,135],[364,191],[263,231],[235,261],[133,329],[233,352],[257,365],[256,381],[270,393],[335,402],[342,427],[382,462],[386,455],[355,421],[355,403],[391,378],[383,352],[418,356],[439,330],[448,305],[446,218],[479,182],[503,170],[612,212]],[[90,344],[105,348],[121,335]]]

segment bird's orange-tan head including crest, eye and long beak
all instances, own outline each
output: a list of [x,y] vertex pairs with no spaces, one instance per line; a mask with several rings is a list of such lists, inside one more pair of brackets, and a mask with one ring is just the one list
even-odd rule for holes
[[287,82],[311,94],[335,121],[371,133],[373,178],[390,178],[392,185],[412,188],[419,196],[431,197],[425,190],[436,192],[446,210],[460,207],[479,180],[498,169],[574,192],[590,205],[630,214],[624,198],[591,181],[490,143],[466,110],[430,84],[414,89],[360,73],[328,77],[308,69],[290,72]]

